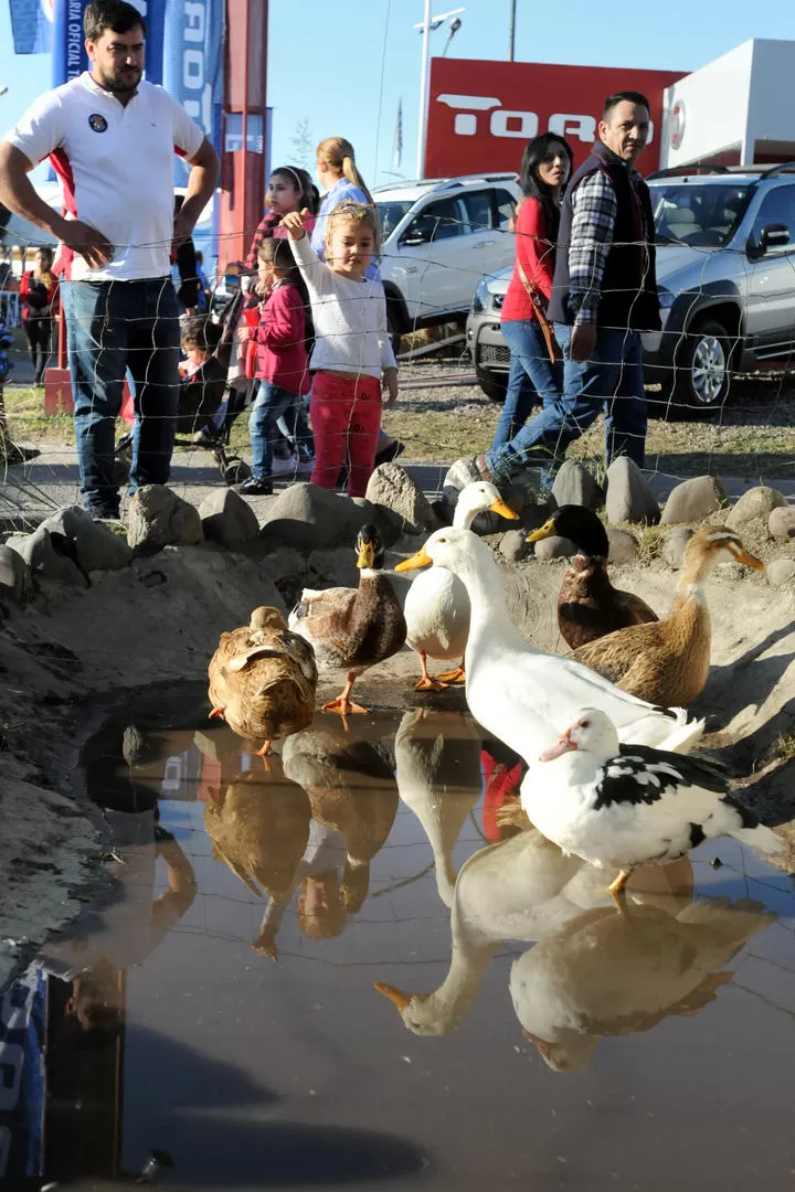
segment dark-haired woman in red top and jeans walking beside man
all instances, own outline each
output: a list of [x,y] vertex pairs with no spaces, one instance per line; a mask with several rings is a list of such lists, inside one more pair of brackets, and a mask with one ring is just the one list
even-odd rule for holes
[[[522,195],[516,216],[516,263],[502,308],[502,333],[510,348],[508,392],[491,451],[510,442],[536,402],[549,405],[563,387],[563,365],[552,364],[524,279],[548,300],[552,293],[560,192],[572,168],[571,149],[553,132],[534,137],[522,156]],[[487,459],[487,454],[486,454]]]

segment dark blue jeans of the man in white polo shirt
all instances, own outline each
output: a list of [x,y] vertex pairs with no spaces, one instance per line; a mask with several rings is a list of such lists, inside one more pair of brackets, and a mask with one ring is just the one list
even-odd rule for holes
[[168,480],[179,397],[176,294],[170,278],[66,281],[61,294],[80,491],[91,513],[116,517],[119,486],[113,449],[128,368],[135,404],[130,492]]

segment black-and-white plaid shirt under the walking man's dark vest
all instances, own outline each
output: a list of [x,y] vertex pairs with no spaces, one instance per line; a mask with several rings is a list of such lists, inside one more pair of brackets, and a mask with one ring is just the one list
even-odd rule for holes
[[[629,172],[632,184],[640,179]],[[578,323],[596,323],[602,277],[613,247],[619,200],[601,169],[584,178],[572,195],[573,217],[569,246],[569,303]]]

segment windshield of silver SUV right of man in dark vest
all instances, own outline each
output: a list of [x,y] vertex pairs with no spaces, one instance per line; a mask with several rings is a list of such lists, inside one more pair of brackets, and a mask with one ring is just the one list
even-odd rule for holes
[[746,209],[750,182],[683,182],[652,185],[658,244],[723,248]]

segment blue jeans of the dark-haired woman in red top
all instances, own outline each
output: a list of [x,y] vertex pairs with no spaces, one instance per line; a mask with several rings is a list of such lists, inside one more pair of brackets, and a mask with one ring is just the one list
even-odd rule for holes
[[563,390],[563,364],[549,360],[544,333],[535,318],[507,319],[503,339],[510,348],[505,404],[497,422],[491,449],[509,443],[524,426],[533,406],[554,405]]

